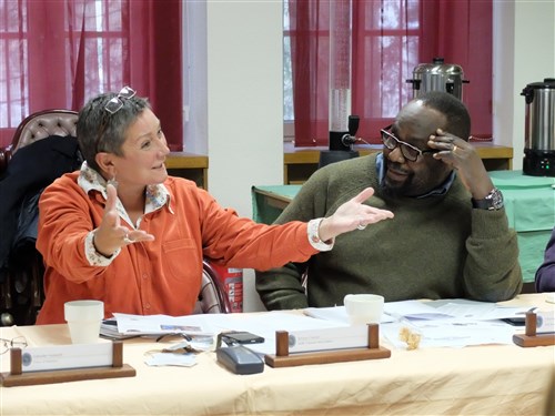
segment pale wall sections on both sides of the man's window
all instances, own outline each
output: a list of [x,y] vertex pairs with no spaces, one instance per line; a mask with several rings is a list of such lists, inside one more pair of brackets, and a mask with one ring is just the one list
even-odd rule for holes
[[[185,47],[195,53],[191,71],[185,67],[185,148],[209,155],[211,194],[252,216],[251,186],[283,181],[282,0],[186,1],[186,8],[188,33],[195,34]],[[513,146],[514,169],[524,155],[519,94],[555,77],[554,44],[555,2],[494,1],[494,141]],[[244,310],[261,308],[245,271]]]

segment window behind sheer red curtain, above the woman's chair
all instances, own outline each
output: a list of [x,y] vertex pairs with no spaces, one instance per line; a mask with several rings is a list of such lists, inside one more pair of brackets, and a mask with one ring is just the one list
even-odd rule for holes
[[32,112],[79,110],[84,98],[121,89],[128,13],[128,0],[0,0],[1,145]]

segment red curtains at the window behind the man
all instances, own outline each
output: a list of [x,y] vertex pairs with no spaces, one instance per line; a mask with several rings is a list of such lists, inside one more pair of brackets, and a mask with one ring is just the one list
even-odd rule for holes
[[[327,145],[330,1],[289,0],[295,146]],[[492,0],[352,0],[352,114],[379,143],[413,97],[413,70],[443,57],[463,68],[473,135],[492,136]],[[333,64],[333,63],[332,63]]]

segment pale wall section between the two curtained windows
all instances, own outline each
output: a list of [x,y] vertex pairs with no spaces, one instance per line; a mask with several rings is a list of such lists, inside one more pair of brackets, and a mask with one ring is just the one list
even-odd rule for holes
[[[283,183],[282,1],[206,1],[209,191],[252,217],[251,186]],[[262,304],[244,271],[244,310]]]

